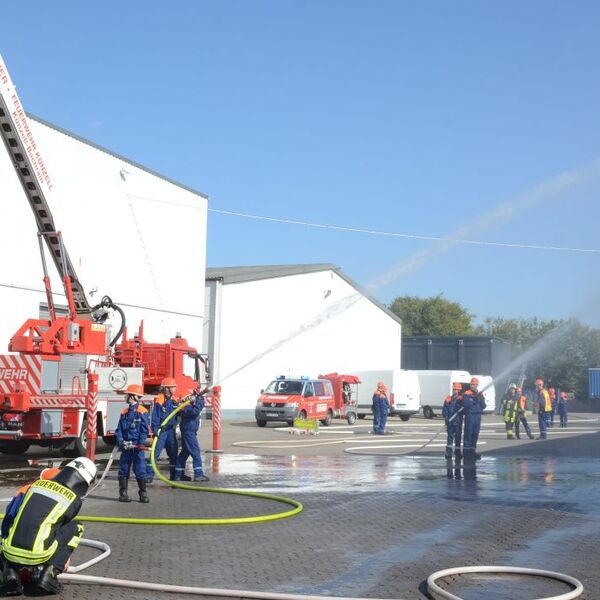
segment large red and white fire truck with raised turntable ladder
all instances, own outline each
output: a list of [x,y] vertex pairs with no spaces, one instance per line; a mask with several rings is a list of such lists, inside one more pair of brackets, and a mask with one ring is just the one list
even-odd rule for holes
[[[123,311],[105,297],[90,306],[47,202],[52,182],[15,87],[0,57],[0,136],[33,210],[47,303],[12,336],[0,355],[0,451],[23,453],[30,445],[69,448],[84,454],[97,436],[114,441],[123,397],[131,383],[154,394],[163,377],[178,390],[209,381],[208,360],[177,335],[168,343],[127,337]],[[68,306],[54,305],[44,243],[62,279]],[[107,319],[121,325],[110,335]],[[112,338],[112,339],[110,339]],[[117,343],[121,339],[120,343]],[[89,452],[88,452],[89,455]]]

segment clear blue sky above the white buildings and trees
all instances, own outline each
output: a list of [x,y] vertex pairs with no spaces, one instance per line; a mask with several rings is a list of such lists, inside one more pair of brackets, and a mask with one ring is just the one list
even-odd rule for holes
[[[29,112],[212,209],[600,251],[596,2],[36,0],[2,20]],[[577,184],[473,227],[564,172]],[[330,262],[367,286],[432,244],[212,212],[208,265]],[[459,245],[376,295],[600,326],[599,262]]]

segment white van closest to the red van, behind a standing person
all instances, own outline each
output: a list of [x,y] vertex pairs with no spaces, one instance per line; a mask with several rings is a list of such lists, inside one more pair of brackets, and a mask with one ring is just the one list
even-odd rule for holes
[[391,416],[399,416],[403,421],[408,421],[411,415],[419,412],[421,392],[419,379],[414,371],[386,369],[356,371],[352,375],[356,375],[361,381],[356,407],[359,419],[364,419],[365,415],[373,412],[373,394],[378,381],[383,381],[388,388]]

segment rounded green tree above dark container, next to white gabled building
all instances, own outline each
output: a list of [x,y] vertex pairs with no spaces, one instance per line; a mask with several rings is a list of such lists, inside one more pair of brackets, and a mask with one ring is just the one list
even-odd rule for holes
[[402,319],[403,335],[470,335],[473,315],[439,294],[431,298],[398,296],[390,310]]

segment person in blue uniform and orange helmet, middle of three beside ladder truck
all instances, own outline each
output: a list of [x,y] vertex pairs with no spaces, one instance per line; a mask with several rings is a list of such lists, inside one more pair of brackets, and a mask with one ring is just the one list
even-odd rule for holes
[[[152,416],[150,423],[152,433],[156,435],[160,428],[160,424],[177,408],[178,401],[175,398],[175,390],[177,383],[172,377],[165,377],[162,380],[161,386],[163,391],[154,400],[152,405]],[[156,446],[154,447],[154,461],[158,462],[163,448],[167,451],[169,457],[169,479],[175,478],[175,467],[177,466],[177,436],[175,428],[177,427],[177,419],[171,419],[160,431]],[[154,470],[152,464],[148,461],[146,465],[146,481],[151,483],[154,479]]]

